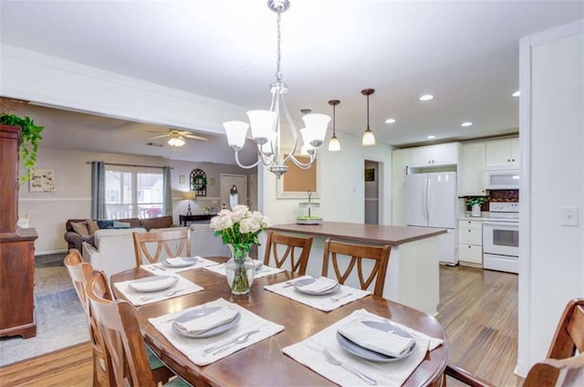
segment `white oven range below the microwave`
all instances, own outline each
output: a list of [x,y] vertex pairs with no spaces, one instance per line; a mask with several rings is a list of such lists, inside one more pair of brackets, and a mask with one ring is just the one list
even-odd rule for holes
[[519,272],[519,204],[490,202],[483,222],[483,267]]

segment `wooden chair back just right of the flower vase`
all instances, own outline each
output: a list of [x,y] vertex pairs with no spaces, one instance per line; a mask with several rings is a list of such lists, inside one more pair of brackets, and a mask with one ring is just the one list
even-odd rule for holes
[[[289,257],[291,270],[297,272],[300,276],[304,276],[307,274],[308,256],[310,256],[312,239],[312,236],[282,235],[268,231],[264,265],[269,265],[270,256],[273,256],[276,267],[282,267]],[[284,248],[286,249],[284,250]],[[300,255],[296,257],[295,253],[298,251],[297,249],[300,249]],[[282,250],[284,250],[284,253],[282,253]]]

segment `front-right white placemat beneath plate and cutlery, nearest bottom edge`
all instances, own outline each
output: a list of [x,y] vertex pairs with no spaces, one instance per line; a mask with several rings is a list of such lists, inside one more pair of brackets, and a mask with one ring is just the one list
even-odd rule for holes
[[[365,373],[374,379],[379,386],[401,386],[423,361],[429,348],[433,350],[442,344],[442,340],[430,338],[421,332],[403,327],[401,324],[391,321],[403,329],[408,330],[414,336],[416,347],[412,355],[400,361],[383,363],[362,360],[343,350],[337,341],[337,329],[339,326],[346,324],[352,319],[385,320],[365,309],[355,310],[349,316],[340,319],[327,329],[321,330],[307,340],[290,345],[284,348],[283,351],[295,361],[306,365],[311,370],[318,372],[328,380],[336,382],[341,386],[360,386],[367,385],[367,383],[353,373],[330,364],[322,353],[323,349],[327,349],[339,361],[343,361],[358,371]],[[430,346],[431,343],[433,347]]]

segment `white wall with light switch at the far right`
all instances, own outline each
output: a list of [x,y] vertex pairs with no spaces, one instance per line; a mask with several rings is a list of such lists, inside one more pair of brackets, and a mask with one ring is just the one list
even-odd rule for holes
[[[584,297],[584,20],[521,41],[519,353],[545,358],[570,298]],[[579,210],[562,225],[561,208]]]

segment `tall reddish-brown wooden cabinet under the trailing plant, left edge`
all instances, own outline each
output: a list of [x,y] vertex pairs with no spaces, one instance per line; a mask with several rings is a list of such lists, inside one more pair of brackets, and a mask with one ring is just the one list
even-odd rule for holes
[[0,337],[36,336],[35,240],[18,219],[20,128],[0,125]]

